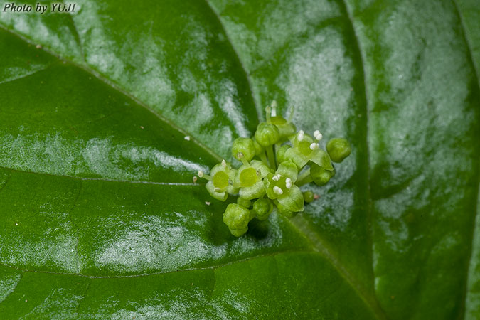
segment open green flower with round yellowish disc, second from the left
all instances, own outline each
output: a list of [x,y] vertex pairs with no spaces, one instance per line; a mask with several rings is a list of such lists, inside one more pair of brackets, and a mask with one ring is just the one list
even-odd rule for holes
[[262,178],[270,172],[270,168],[258,160],[240,166],[233,181],[233,185],[240,189],[240,198],[251,200],[262,197],[265,194]]

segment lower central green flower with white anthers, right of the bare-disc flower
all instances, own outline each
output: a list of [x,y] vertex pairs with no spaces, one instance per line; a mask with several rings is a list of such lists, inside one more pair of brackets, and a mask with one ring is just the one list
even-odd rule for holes
[[293,161],[284,161],[275,174],[267,174],[264,179],[267,197],[277,200],[284,212],[299,212],[304,210],[304,196],[294,183],[297,181],[297,166]]

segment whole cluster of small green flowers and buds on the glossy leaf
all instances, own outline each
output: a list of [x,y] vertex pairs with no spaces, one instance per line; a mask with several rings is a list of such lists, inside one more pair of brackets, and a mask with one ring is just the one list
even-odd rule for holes
[[213,198],[225,201],[228,195],[238,195],[230,203],[223,222],[230,233],[240,237],[248,230],[253,218],[266,220],[273,209],[287,217],[304,210],[304,202],[316,198],[300,186],[314,182],[324,186],[335,175],[332,161],[341,162],[351,152],[343,138],[331,139],[326,151],[320,149],[319,130],[311,137],[303,130],[297,132],[290,119],[276,115],[275,105],[267,107],[267,122],[258,125],[255,137],[235,139],[232,154],[242,163],[235,169],[223,160],[213,166],[210,175],[198,171],[208,180],[206,188]]

